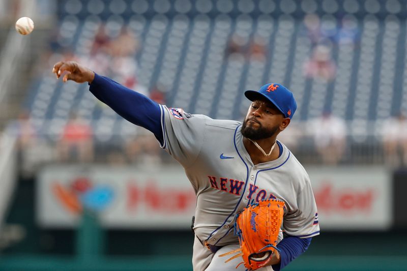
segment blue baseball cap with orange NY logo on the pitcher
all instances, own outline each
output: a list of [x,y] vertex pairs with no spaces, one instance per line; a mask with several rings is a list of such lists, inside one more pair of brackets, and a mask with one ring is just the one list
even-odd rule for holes
[[245,91],[245,96],[252,102],[266,98],[283,113],[284,117],[292,118],[297,110],[293,93],[281,84],[265,84],[258,91]]

